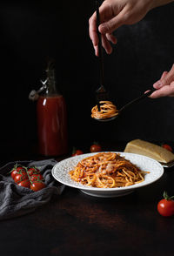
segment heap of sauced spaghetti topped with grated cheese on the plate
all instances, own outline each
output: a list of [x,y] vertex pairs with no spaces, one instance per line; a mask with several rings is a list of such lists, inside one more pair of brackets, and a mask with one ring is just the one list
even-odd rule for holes
[[100,152],[78,162],[70,178],[99,188],[134,185],[144,181],[145,173],[130,160],[114,152]]

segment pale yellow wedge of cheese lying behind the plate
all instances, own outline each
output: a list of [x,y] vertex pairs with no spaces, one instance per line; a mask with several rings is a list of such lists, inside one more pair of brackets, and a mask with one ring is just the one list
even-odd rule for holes
[[141,139],[131,140],[125,147],[124,152],[136,153],[153,158],[161,163],[169,163],[174,160],[174,154],[162,146],[152,144]]

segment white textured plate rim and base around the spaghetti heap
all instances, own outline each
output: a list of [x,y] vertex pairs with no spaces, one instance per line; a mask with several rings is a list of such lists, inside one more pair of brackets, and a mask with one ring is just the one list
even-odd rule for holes
[[69,172],[77,165],[79,161],[83,158],[90,157],[96,153],[83,154],[71,158],[66,158],[63,161],[60,161],[52,169],[52,176],[57,179],[57,181],[63,183],[64,185],[69,185],[71,187],[76,187],[82,192],[89,194],[90,196],[102,197],[102,198],[112,198],[124,196],[133,190],[142,187],[144,185],[150,185],[159,179],[164,173],[164,167],[159,164],[156,160],[152,158],[147,158],[142,155],[125,153],[125,152],[116,152],[120,153],[121,156],[126,159],[131,160],[132,164],[137,165],[141,170],[147,171],[150,173],[145,174],[144,181],[135,185],[130,185],[126,187],[116,187],[116,188],[97,188],[87,185],[82,185],[76,181],[70,179]]

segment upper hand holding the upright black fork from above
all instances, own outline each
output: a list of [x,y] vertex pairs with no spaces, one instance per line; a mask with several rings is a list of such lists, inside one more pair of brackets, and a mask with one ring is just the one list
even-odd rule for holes
[[[105,0],[99,8],[102,44],[105,51],[110,54],[111,44],[117,44],[117,38],[112,32],[124,24],[136,24],[151,10],[153,0]],[[98,56],[97,17],[96,12],[89,20],[89,33],[95,54]]]

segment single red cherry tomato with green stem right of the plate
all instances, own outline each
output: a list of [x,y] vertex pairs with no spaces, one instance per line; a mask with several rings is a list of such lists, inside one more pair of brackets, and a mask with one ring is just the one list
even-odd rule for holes
[[161,199],[157,204],[157,212],[164,217],[169,217],[174,214],[174,197],[169,197],[167,192],[164,192],[164,199]]

